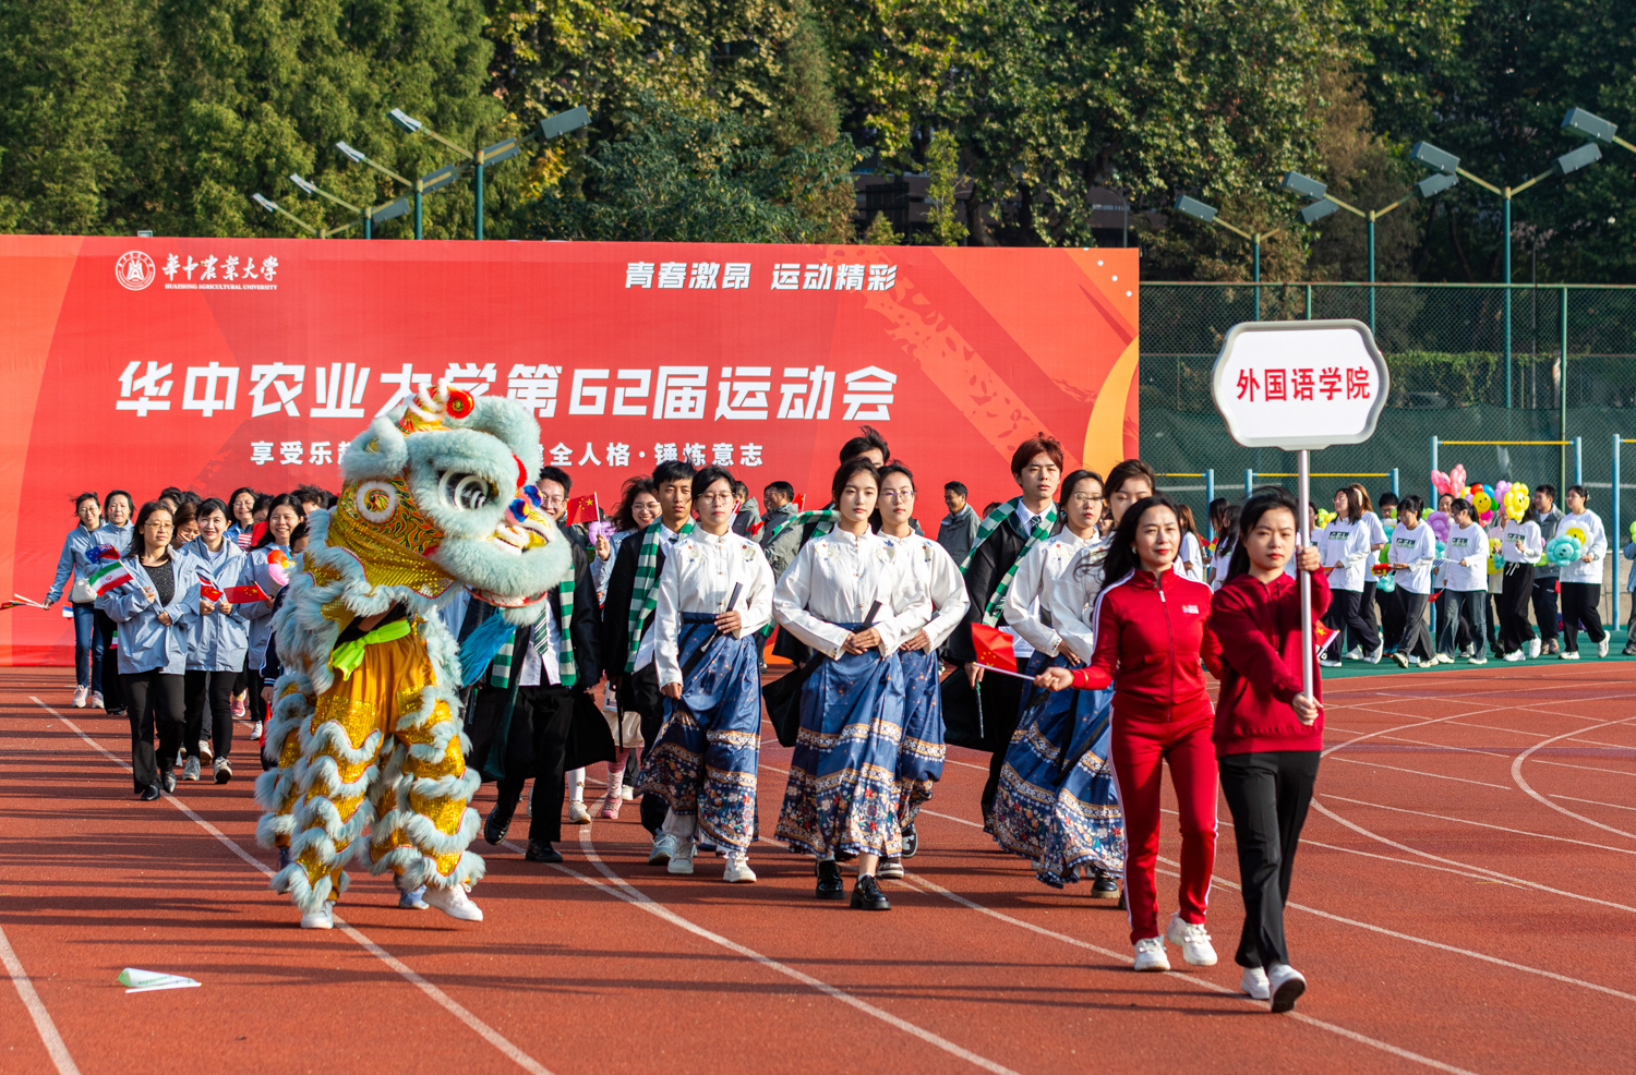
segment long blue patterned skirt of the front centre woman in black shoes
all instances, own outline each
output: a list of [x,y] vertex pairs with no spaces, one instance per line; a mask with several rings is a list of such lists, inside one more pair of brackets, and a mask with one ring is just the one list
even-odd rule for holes
[[901,741],[898,656],[870,651],[825,658],[802,686],[802,728],[790,756],[777,838],[793,851],[838,859],[900,854]]

